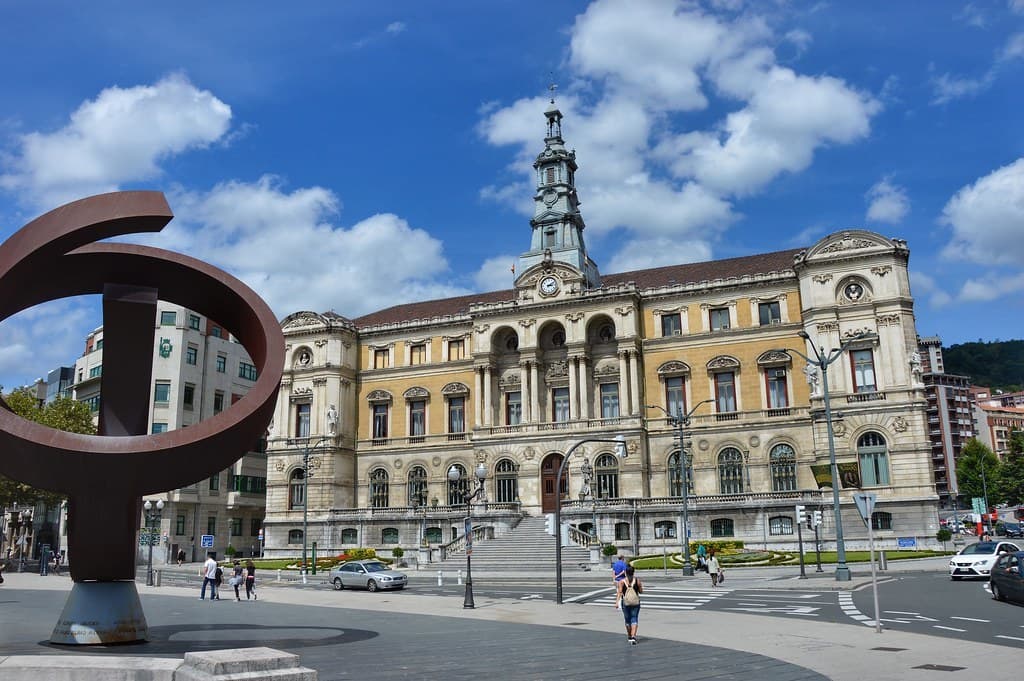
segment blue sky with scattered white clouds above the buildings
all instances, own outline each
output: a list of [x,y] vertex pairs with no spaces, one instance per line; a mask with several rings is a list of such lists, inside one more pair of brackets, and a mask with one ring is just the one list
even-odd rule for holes
[[[157,188],[176,218],[144,241],[280,316],[507,288],[554,81],[601,271],[865,227],[907,240],[920,334],[1024,337],[1024,0],[0,0],[0,238]],[[90,298],[4,322],[0,385],[73,363],[99,324]]]

